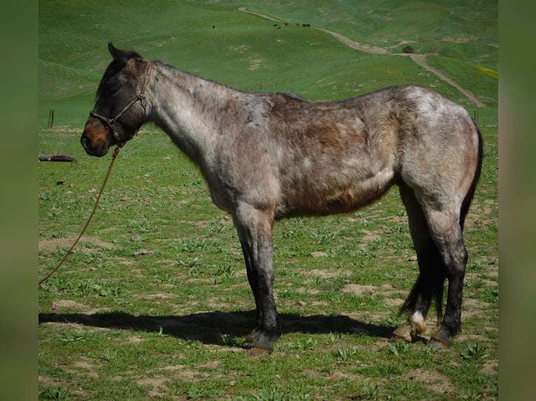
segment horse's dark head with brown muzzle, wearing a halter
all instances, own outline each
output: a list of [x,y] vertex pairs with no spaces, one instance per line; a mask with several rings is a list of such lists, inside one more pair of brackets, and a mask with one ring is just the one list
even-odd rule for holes
[[145,89],[150,63],[132,51],[108,43],[113,57],[97,89],[97,102],[85,123],[80,143],[87,154],[104,156],[122,147],[146,122]]

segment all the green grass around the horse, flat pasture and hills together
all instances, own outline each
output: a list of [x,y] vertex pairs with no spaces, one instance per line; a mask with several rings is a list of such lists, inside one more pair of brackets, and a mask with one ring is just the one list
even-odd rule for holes
[[[39,290],[41,400],[498,399],[496,4],[353,3],[41,1],[39,154],[77,162],[38,165],[38,276],[80,232],[108,167],[108,156],[91,158],[79,143],[108,41],[247,91],[340,99],[412,82],[478,112],[484,136],[453,347],[388,342],[417,274],[404,207],[390,191],[364,210],[276,224],[284,335],[271,355],[248,356],[254,302],[232,221],[197,168],[148,125],[118,156],[80,245]],[[463,13],[451,13],[458,6]],[[314,27],[397,47],[358,52]],[[435,53],[428,63],[486,107],[394,55],[401,41]]]

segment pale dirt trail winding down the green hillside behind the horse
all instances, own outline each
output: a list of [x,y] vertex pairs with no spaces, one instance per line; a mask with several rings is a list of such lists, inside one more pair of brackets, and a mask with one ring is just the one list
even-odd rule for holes
[[[250,14],[253,14],[253,15],[258,15],[259,17],[265,18],[266,20],[279,22],[281,24],[285,23],[285,22],[283,22],[281,20],[276,20],[275,18],[269,17],[268,15],[255,13],[253,11],[248,11],[246,9],[246,7],[239,8],[239,11],[242,11],[244,13],[250,13]],[[437,77],[439,79],[444,80],[449,85],[452,85],[453,87],[458,89],[458,91],[460,91],[465,96],[467,96],[467,99],[470,99],[470,101],[472,101],[475,105],[477,105],[477,107],[486,107],[486,105],[484,103],[482,103],[481,101],[479,101],[479,99],[477,99],[477,96],[474,96],[474,94],[472,94],[467,89],[464,89],[463,87],[460,87],[460,85],[458,85],[458,83],[456,83],[456,81],[454,81],[451,78],[447,77],[441,71],[439,71],[439,70],[435,69],[434,67],[430,66],[430,64],[428,64],[426,62],[426,55],[425,54],[390,53],[387,49],[384,49],[384,48],[377,48],[376,46],[364,45],[362,43],[352,41],[350,38],[347,38],[346,36],[341,35],[341,34],[337,34],[337,32],[334,32],[334,31],[329,31],[327,29],[318,28],[318,27],[312,27],[312,28],[318,29],[319,31],[323,31],[326,34],[330,34],[331,36],[336,38],[338,41],[341,41],[342,43],[347,45],[349,48],[359,50],[360,52],[372,53],[372,54],[392,54],[392,55],[397,55],[397,56],[411,57],[411,59],[413,61],[415,61],[419,66],[425,68],[426,71],[430,71],[430,73],[437,75]]]

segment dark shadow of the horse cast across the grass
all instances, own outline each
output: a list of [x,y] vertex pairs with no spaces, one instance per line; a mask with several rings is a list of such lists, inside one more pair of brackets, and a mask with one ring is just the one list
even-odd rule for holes
[[[363,323],[348,316],[300,316],[279,314],[283,335],[285,333],[362,333],[372,337],[389,339],[395,327]],[[76,323],[84,326],[120,330],[138,330],[146,333],[160,333],[197,340],[204,344],[229,345],[229,338],[248,335],[255,325],[255,311],[199,312],[185,316],[134,316],[124,312],[50,313],[39,314],[39,324]],[[242,346],[240,342],[231,343]]]

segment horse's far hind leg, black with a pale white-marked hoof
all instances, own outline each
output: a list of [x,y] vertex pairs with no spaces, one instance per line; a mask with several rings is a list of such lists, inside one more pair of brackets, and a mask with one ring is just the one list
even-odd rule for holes
[[409,312],[409,318],[395,330],[393,340],[403,339],[411,342],[426,329],[425,319],[432,298],[436,299],[437,315],[441,319],[445,273],[441,256],[428,229],[428,221],[413,189],[401,184],[400,196],[408,214],[409,232],[417,254],[419,275],[400,310],[401,313]]

